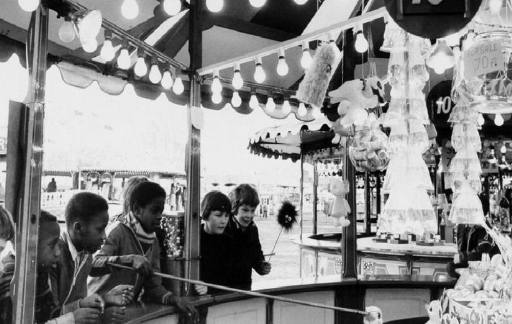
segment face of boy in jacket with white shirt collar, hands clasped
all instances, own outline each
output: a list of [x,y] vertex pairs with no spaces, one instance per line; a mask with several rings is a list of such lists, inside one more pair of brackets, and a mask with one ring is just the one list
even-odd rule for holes
[[91,253],[95,253],[106,239],[105,227],[109,223],[109,211],[101,211],[94,215],[88,224],[80,222],[79,245]]

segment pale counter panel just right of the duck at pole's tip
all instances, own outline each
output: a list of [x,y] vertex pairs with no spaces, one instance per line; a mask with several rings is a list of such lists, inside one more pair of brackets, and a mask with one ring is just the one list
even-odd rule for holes
[[365,297],[365,307],[379,307],[385,322],[426,316],[425,304],[429,303],[429,289],[367,289]]

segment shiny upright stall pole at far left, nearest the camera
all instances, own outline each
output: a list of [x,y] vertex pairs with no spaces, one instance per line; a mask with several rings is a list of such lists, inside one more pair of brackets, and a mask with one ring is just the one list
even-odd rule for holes
[[32,13],[27,36],[29,92],[25,104],[29,118],[26,137],[25,183],[22,214],[16,244],[16,273],[13,289],[14,323],[35,322],[37,235],[40,212],[43,119],[48,46],[48,8]]

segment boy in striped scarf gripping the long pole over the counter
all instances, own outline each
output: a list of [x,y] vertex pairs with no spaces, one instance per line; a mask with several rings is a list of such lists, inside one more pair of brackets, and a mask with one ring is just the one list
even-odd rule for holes
[[[135,283],[135,296],[164,305],[176,305],[189,316],[197,316],[196,309],[186,299],[173,295],[162,286],[162,279],[154,276],[160,272],[160,247],[155,229],[160,226],[165,205],[165,190],[157,183],[145,181],[137,184],[128,197],[129,212],[109,225],[105,244],[94,257],[93,267],[104,268],[107,262],[135,268],[90,278],[89,292],[104,294],[116,285]],[[142,275],[140,275],[142,274]]]

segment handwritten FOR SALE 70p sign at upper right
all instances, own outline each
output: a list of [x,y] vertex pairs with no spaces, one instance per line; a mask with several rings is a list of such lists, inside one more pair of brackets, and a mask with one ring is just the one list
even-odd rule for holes
[[488,41],[464,52],[464,77],[503,70],[505,57],[499,41]]

